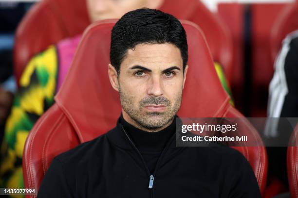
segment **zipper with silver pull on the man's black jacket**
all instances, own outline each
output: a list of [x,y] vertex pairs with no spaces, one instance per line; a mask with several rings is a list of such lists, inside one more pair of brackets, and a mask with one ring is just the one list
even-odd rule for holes
[[[167,146],[164,148],[164,150],[162,151],[161,155],[159,156],[159,158],[158,158],[158,160],[157,160],[157,163],[156,163],[156,165],[155,165],[155,169],[154,169],[153,174],[151,174],[150,171],[149,171],[149,168],[148,168],[148,166],[147,166],[147,164],[146,164],[146,162],[145,162],[145,160],[144,160],[144,158],[143,158],[143,156],[142,156],[142,154],[141,154],[141,152],[140,152],[139,149],[135,146],[135,144],[132,142],[132,140],[130,139],[130,136],[128,136],[128,134],[127,134],[126,131],[124,130],[124,127],[122,127],[122,130],[123,130],[123,132],[126,134],[127,138],[129,139],[129,141],[130,141],[132,147],[137,151],[137,153],[138,153],[139,156],[141,157],[142,162],[143,162],[143,164],[144,164],[144,166],[145,166],[145,168],[146,168],[146,172],[147,172],[147,174],[148,174],[148,176],[149,176],[149,186],[148,186],[148,188],[151,189],[150,194],[151,194],[151,198],[152,198],[152,197],[153,197],[153,192],[152,192],[152,190],[153,190],[154,175],[155,175],[155,173],[156,173],[156,171],[157,171],[157,169],[158,169],[158,166],[159,166],[159,164],[160,164],[161,159],[162,159],[163,156],[165,155],[166,150],[168,150],[168,147],[169,147],[169,145],[171,144],[171,141],[172,141],[172,138],[173,138],[173,137],[171,137],[171,138],[169,139]],[[175,136],[175,135],[173,135],[173,136]]]

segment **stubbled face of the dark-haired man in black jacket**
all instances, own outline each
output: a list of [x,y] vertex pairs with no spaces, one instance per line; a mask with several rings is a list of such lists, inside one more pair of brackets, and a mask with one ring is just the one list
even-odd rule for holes
[[180,108],[186,72],[180,50],[172,44],[129,49],[113,86],[119,91],[124,118],[147,131],[166,128]]

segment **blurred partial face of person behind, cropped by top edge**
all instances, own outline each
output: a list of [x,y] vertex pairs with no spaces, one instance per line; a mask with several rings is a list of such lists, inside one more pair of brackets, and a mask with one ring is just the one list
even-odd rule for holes
[[125,13],[143,7],[157,9],[164,0],[87,0],[91,22],[120,18]]

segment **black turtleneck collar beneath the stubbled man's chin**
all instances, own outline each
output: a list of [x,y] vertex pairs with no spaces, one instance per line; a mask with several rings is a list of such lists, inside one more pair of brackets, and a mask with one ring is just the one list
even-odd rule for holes
[[120,123],[140,151],[162,151],[170,137],[174,135],[176,129],[175,118],[167,128],[159,132],[140,130],[128,123],[122,114],[120,116]]

